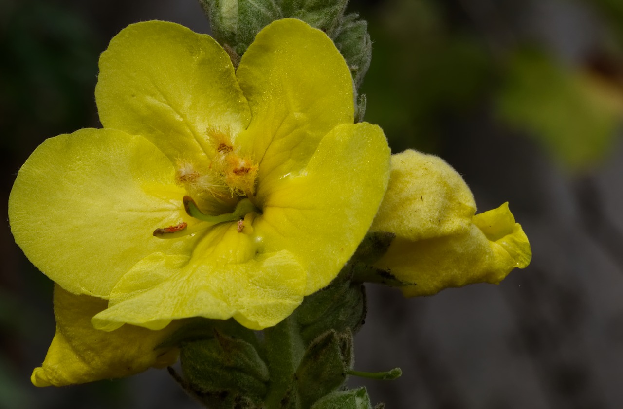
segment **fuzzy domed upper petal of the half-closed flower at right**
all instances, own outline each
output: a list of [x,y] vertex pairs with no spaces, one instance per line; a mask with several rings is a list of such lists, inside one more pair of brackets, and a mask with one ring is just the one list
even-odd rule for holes
[[472,192],[437,156],[412,150],[392,155],[387,193],[372,231],[416,241],[467,232],[476,211]]

